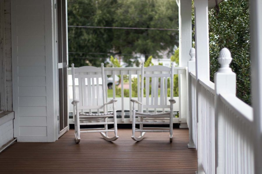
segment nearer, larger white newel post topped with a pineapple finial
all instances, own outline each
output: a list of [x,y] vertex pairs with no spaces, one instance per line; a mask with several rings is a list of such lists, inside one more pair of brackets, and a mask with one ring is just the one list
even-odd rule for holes
[[220,116],[222,108],[218,95],[223,94],[235,94],[236,95],[236,74],[232,72],[229,67],[231,63],[231,53],[227,48],[223,48],[218,57],[220,68],[215,73],[215,163],[217,173],[223,173],[223,154],[224,154],[224,142],[223,134],[220,132],[224,130],[223,118]]

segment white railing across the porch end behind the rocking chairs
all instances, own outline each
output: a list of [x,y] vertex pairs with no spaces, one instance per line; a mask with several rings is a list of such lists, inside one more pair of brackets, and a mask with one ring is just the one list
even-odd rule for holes
[[[181,78],[183,78],[183,81],[187,81],[187,68],[186,67],[174,67],[174,74],[178,74],[179,76],[179,80]],[[129,84],[129,97],[125,97],[124,96],[124,83],[121,83],[121,97],[116,97],[116,76],[120,76],[120,80],[121,82],[124,81],[124,75],[126,75],[128,77],[128,84]],[[119,116],[117,117],[117,122],[118,123],[122,123],[122,124],[130,124],[132,123],[132,106],[131,106],[131,102],[130,99],[136,99],[139,100],[140,99],[140,77],[141,75],[141,68],[139,67],[124,67],[124,68],[105,68],[105,76],[111,76],[113,77],[113,85],[112,85],[112,92],[113,95],[112,97],[107,97],[107,100],[109,101],[110,99],[116,99],[117,104],[116,104],[116,110],[120,111],[117,114],[120,115],[121,118],[119,118]],[[132,97],[132,93],[134,93],[134,89],[132,89],[132,79],[133,78],[137,78],[137,89],[136,89],[136,93],[137,96]],[[68,108],[69,108],[69,113],[72,113],[73,109],[71,106],[71,102],[72,102],[72,74],[71,74],[71,68],[68,69]],[[105,83],[107,84],[107,78],[105,80]],[[187,89],[187,86],[185,86],[186,83],[178,83],[178,89]],[[77,84],[76,84],[76,90],[77,90]],[[108,90],[106,91],[108,93]],[[179,92],[179,95],[181,95],[181,93]],[[108,96],[108,94],[107,94]],[[168,97],[169,99],[170,97]],[[178,117],[174,117],[173,118],[173,122],[174,123],[187,123],[187,98],[184,97],[174,97],[174,99],[176,100],[176,103],[174,104],[174,111],[179,112]],[[160,101],[160,100],[158,100]],[[112,110],[112,108],[110,108],[111,106],[109,106],[108,110]],[[136,106],[137,107],[137,106]],[[138,109],[138,108],[137,108]],[[110,119],[109,119],[110,121]],[[159,121],[159,120],[158,120]],[[163,122],[166,122],[167,120],[161,120]],[[73,124],[73,119],[70,118],[69,119],[69,124]]]

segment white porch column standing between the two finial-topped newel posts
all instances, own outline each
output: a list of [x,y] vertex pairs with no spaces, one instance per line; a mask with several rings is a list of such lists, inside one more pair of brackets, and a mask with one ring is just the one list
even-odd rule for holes
[[194,0],[197,78],[197,173],[202,167],[201,88],[198,79],[209,80],[208,0]]

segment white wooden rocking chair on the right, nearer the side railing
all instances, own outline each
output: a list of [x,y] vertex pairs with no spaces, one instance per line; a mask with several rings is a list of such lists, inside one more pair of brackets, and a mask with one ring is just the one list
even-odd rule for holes
[[[144,104],[144,78],[146,79],[146,104]],[[160,78],[160,101],[158,101],[158,88],[159,88],[159,78]],[[170,105],[167,104],[167,84],[168,78],[170,78]],[[149,96],[151,79],[151,97]],[[132,139],[135,141],[140,141],[144,138],[146,132],[169,132],[170,142],[172,142],[173,134],[173,104],[176,101],[173,99],[174,89],[174,63],[172,62],[171,68],[166,66],[149,66],[144,68],[144,63],[141,67],[141,97],[140,101],[131,100],[133,102],[132,109]],[[151,98],[151,99],[150,99]],[[149,103],[149,101],[151,101]],[[140,105],[140,110],[135,110],[135,103]],[[146,109],[144,113],[143,109]],[[170,109],[169,111],[165,108]],[[153,109],[154,113],[149,112],[149,109]],[[161,109],[161,110],[159,110]],[[160,111],[160,112],[159,112]],[[138,122],[136,122],[136,116],[138,117]],[[159,122],[154,120],[159,119],[169,119],[169,122]],[[146,121],[144,121],[146,120]],[[148,122],[148,120],[152,120]],[[139,129],[135,128],[135,125],[139,124]],[[169,128],[147,128],[143,127],[143,124],[169,124]],[[140,132],[140,136],[136,137],[135,132]]]

